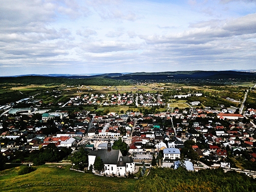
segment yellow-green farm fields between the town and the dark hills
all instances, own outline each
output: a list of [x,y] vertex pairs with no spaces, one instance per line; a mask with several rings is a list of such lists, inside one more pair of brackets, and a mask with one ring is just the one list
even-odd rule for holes
[[[53,110],[63,110],[63,108],[58,108],[59,103],[66,103],[70,100],[71,97],[75,96],[91,96],[92,94],[106,94],[106,97],[103,99],[99,99],[97,105],[94,103],[92,105],[82,104],[79,107],[75,107],[77,109],[85,109],[88,111],[94,111],[95,107],[101,110],[98,110],[101,114],[105,112],[127,112],[127,111],[141,111],[140,109],[148,109],[150,107],[135,107],[135,103],[132,105],[115,105],[115,106],[103,106],[103,101],[110,102],[111,96],[113,94],[161,94],[163,95],[164,102],[166,105],[162,108],[158,108],[159,112],[167,111],[169,108],[178,107],[179,109],[185,109],[190,106],[190,102],[199,101],[201,103],[200,106],[203,107],[212,107],[218,108],[221,104],[224,106],[234,106],[239,107],[239,101],[242,101],[244,98],[245,90],[249,89],[249,87],[253,87],[253,82],[236,82],[232,84],[222,84],[220,86],[216,85],[190,85],[186,84],[178,84],[178,83],[137,83],[133,85],[126,86],[88,86],[88,85],[73,85],[67,86],[64,84],[56,85],[56,84],[46,84],[46,85],[23,85],[23,84],[0,84],[0,105],[4,105],[6,103],[15,102],[22,98],[34,96],[34,99],[41,100],[41,107],[49,107],[51,106]],[[254,107],[252,103],[255,103],[256,96],[253,93],[254,89],[248,95],[248,100],[246,104]],[[188,93],[202,93],[202,97],[192,97],[192,98],[182,98],[182,99],[174,99],[174,95],[186,95]],[[225,98],[235,99],[236,102],[230,102]],[[140,103],[139,103],[140,104]],[[69,107],[69,106],[66,106]],[[66,108],[69,110],[69,108]],[[170,109],[169,109],[170,110]],[[168,111],[169,111],[168,110]]]

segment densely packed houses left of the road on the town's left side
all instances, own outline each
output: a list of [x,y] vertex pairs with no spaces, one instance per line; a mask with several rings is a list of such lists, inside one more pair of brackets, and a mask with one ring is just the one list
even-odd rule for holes
[[[54,143],[56,147],[77,148],[77,143],[87,133],[91,118],[84,113],[77,113],[77,119],[73,123],[69,122],[67,111],[57,111],[53,113],[43,113],[41,120],[32,120],[32,115],[28,115],[27,120],[23,116],[5,118],[6,128],[0,130],[1,152],[8,151],[30,151],[39,150],[41,147]],[[21,128],[21,122],[24,124]],[[52,122],[52,123],[50,123]],[[40,126],[38,126],[40,125]],[[54,134],[44,134],[45,130]],[[46,131],[47,132],[47,131]],[[85,147],[85,146],[81,146]],[[91,146],[92,147],[92,146]],[[93,148],[93,147],[92,147]]]

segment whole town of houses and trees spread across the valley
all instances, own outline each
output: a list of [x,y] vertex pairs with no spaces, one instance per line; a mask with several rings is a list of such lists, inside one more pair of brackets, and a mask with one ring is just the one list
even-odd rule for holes
[[[61,91],[52,90],[0,106],[1,154],[6,162],[70,162],[83,150],[87,162],[73,162],[73,169],[101,175],[127,177],[143,175],[143,167],[184,166],[190,171],[222,167],[255,176],[256,109],[244,108],[248,90],[243,101],[224,98],[239,107],[212,108],[200,103],[208,96],[200,90],[176,88],[166,96],[161,86],[148,92],[136,86],[131,88],[134,92],[102,88],[116,91],[112,94],[89,86],[72,89],[78,91],[66,100],[58,99]],[[85,94],[83,89],[94,92]],[[35,158],[49,146],[62,155]],[[101,166],[96,166],[97,159]]]

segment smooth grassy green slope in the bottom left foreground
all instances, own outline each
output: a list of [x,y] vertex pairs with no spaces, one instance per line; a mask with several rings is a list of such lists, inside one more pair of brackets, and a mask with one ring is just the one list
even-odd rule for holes
[[[25,166],[25,165],[23,165]],[[0,171],[1,192],[132,192],[135,179],[103,177],[69,170],[70,165],[37,166],[18,175],[20,167]]]

